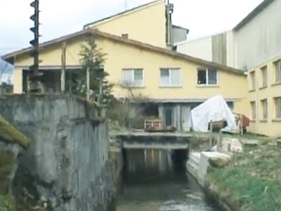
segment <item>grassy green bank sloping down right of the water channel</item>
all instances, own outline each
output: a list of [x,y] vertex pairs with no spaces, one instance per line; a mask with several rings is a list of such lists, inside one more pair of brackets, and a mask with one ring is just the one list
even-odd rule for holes
[[281,210],[281,148],[273,141],[260,141],[244,148],[224,169],[211,169],[209,181],[227,203],[242,211]]

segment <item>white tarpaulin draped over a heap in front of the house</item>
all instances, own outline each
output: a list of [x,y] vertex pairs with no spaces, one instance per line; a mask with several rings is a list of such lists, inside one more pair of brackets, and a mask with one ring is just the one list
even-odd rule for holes
[[223,96],[213,96],[204,103],[191,110],[189,127],[195,132],[208,132],[209,122],[225,120],[227,126],[223,129],[227,132],[237,132],[235,116],[231,112]]

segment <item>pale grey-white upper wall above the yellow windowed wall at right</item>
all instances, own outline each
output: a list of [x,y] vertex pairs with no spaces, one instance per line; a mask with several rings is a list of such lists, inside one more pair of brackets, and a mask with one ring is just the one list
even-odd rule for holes
[[253,69],[281,53],[281,0],[275,0],[235,31],[237,68]]

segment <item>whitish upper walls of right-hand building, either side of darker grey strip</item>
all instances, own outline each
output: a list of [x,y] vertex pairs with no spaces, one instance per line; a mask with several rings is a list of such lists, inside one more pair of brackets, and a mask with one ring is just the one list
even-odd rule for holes
[[[240,29],[226,32],[227,65],[252,70],[281,54],[281,0],[275,0]],[[213,60],[211,37],[178,44],[178,52]]]

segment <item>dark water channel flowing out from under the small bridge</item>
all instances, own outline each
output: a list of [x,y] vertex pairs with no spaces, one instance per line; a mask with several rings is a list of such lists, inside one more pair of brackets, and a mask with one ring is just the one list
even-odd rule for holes
[[129,150],[117,211],[221,211],[186,174],[185,151]]

